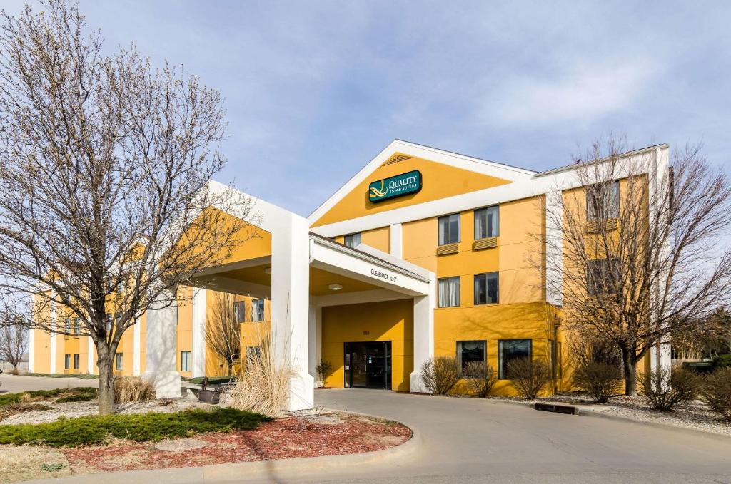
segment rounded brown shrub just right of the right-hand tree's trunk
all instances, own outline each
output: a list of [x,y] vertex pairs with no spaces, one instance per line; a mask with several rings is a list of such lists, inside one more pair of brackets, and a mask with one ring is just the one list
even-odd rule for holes
[[657,368],[648,377],[640,377],[640,389],[645,400],[656,410],[669,412],[685,407],[698,396],[700,377],[683,366],[673,369]]

